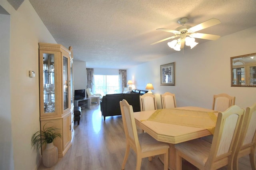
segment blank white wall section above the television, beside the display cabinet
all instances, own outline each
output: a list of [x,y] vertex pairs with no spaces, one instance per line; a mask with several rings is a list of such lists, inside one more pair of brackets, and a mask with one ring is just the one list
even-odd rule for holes
[[74,90],[86,89],[86,62],[73,62]]

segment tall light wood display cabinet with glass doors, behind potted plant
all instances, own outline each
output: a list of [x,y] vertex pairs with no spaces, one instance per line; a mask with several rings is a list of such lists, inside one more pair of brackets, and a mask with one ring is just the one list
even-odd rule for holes
[[60,44],[39,43],[41,128],[59,128],[58,157],[64,156],[74,136],[72,51]]

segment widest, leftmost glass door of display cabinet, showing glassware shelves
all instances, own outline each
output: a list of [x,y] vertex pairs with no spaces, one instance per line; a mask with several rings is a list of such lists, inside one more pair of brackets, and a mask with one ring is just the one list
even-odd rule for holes
[[54,54],[43,53],[44,113],[55,112]]

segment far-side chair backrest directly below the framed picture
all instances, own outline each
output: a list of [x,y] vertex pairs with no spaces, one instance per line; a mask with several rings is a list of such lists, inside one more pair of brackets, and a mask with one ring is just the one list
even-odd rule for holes
[[163,109],[171,109],[176,107],[175,94],[166,92],[161,94],[161,102]]

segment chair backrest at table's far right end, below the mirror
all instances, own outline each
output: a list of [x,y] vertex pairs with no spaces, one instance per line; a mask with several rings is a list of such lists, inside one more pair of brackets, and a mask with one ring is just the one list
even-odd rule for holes
[[230,96],[226,93],[213,95],[212,110],[223,112],[230,106],[235,105],[236,97]]

